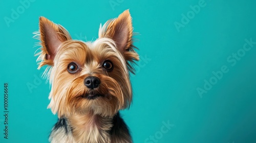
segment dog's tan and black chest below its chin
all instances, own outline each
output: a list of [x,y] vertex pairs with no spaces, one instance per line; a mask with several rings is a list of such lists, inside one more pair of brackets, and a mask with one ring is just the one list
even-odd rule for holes
[[114,118],[88,114],[59,119],[52,129],[50,142],[131,143],[132,139],[119,113]]

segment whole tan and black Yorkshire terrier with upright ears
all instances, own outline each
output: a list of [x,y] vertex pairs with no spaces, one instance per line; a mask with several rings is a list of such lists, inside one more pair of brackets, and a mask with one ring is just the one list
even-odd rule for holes
[[52,112],[58,122],[52,143],[132,142],[119,110],[130,107],[130,73],[139,60],[133,45],[132,18],[125,10],[99,28],[92,42],[73,40],[69,32],[45,17],[39,18],[38,69],[47,65]]

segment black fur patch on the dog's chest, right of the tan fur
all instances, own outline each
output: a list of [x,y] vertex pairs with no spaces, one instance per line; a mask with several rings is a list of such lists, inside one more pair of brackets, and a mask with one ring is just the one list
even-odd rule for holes
[[112,124],[113,124],[113,127],[110,130],[111,135],[121,137],[122,133],[126,133],[126,134],[129,134],[129,136],[131,136],[129,129],[127,125],[124,123],[119,112],[117,112],[117,114],[113,117]]

